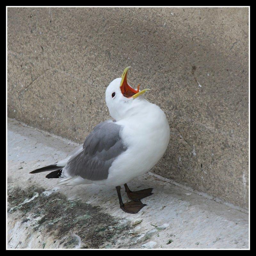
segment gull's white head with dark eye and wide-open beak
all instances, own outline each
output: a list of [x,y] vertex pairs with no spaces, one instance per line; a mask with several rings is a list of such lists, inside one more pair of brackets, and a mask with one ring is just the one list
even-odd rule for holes
[[127,82],[127,71],[130,67],[124,69],[123,75],[120,78],[113,80],[106,89],[106,103],[110,116],[116,121],[123,119],[126,116],[133,115],[139,109],[141,102],[146,101],[143,98],[143,93],[150,89],[139,90],[133,89]]

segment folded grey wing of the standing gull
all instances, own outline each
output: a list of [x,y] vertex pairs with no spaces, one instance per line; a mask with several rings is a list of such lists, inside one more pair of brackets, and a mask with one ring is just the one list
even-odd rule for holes
[[82,152],[65,166],[68,174],[87,180],[107,179],[109,167],[126,150],[119,135],[121,129],[122,126],[109,121],[96,125],[86,137]]

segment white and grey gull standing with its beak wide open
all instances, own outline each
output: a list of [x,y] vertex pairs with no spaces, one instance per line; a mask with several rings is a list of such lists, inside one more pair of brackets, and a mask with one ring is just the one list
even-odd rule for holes
[[[30,173],[52,171],[46,178],[61,178],[60,185],[97,184],[116,187],[120,208],[138,213],[146,206],[140,199],[152,195],[153,188],[131,191],[127,183],[148,172],[164,155],[170,139],[170,127],[156,104],[144,99],[150,89],[134,89],[124,69],[120,78],[107,87],[105,100],[113,120],[94,127],[84,144],[65,159]],[[131,200],[123,203],[121,185]]]

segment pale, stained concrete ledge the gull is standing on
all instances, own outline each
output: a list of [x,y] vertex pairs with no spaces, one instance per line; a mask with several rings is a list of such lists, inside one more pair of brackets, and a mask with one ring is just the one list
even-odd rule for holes
[[[247,213],[148,174],[129,186],[152,187],[154,194],[141,200],[147,206],[139,213],[128,214],[113,187],[58,186],[46,173],[28,173],[73,148],[9,120],[8,248],[249,247]],[[121,193],[128,200],[124,188]]]

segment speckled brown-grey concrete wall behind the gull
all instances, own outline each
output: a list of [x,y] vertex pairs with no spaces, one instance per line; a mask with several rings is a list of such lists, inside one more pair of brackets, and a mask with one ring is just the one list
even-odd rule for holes
[[248,207],[248,8],[8,8],[8,116],[82,142],[128,80],[166,113],[153,172]]

